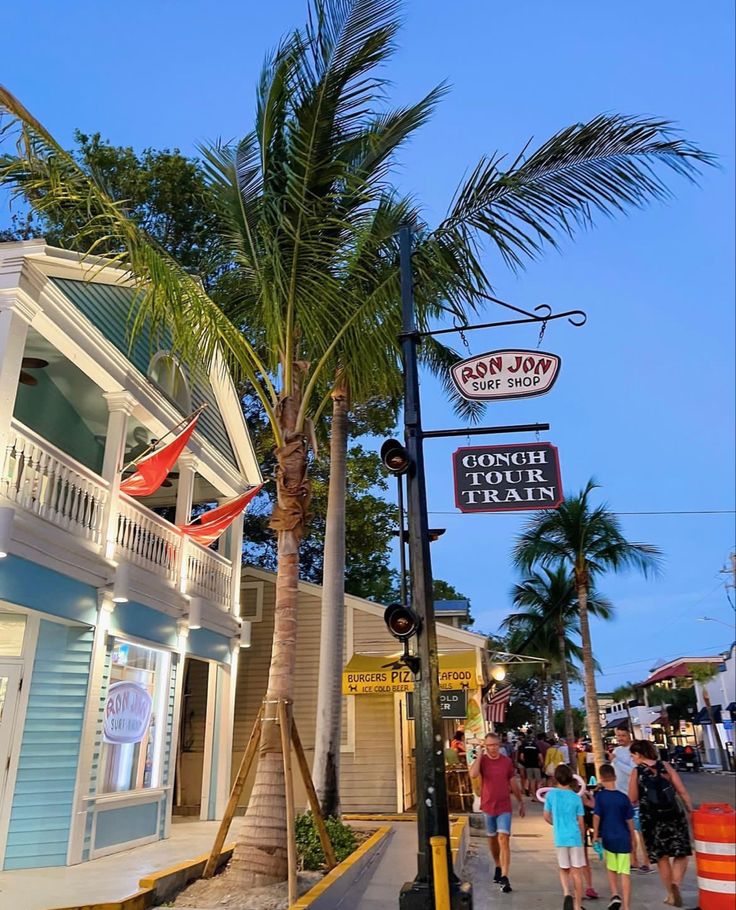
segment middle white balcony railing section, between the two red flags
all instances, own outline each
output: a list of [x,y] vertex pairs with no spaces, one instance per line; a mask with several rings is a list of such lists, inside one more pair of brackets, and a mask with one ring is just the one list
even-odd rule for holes
[[176,525],[125,493],[118,500],[115,542],[120,557],[178,584],[181,535]]

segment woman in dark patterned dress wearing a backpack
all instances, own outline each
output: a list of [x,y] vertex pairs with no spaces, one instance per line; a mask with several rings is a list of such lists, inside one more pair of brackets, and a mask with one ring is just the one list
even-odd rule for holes
[[660,760],[653,743],[636,740],[630,751],[636,768],[629,779],[629,799],[639,805],[644,844],[667,890],[664,902],[682,907],[680,886],[693,852],[685,815],[693,811],[690,794],[672,765]]

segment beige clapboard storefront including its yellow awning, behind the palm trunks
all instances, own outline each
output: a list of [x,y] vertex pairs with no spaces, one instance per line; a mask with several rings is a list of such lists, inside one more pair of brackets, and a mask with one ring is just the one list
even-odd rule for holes
[[[233,769],[263,698],[268,678],[273,635],[276,576],[244,568],[243,616],[253,623],[252,647],[238,672],[233,737]],[[316,690],[319,672],[322,589],[299,585],[296,699],[294,716],[311,764],[314,756]],[[340,798],[344,812],[403,812],[415,804],[415,736],[412,686],[401,667],[387,668],[397,656],[397,642],[386,630],[383,607],[359,597],[345,597],[345,667],[340,759]],[[443,734],[449,740],[462,723],[458,704],[465,693],[476,692],[483,681],[486,638],[463,629],[437,624],[440,677],[444,686]],[[355,691],[351,689],[355,687]],[[453,694],[454,693],[454,694]],[[460,693],[460,697],[458,697]],[[464,718],[464,714],[462,718]],[[251,779],[241,799],[248,802]],[[306,794],[295,781],[297,801]]]

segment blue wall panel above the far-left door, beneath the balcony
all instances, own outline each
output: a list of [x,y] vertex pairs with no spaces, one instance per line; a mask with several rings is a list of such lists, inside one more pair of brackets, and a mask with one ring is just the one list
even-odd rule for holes
[[0,600],[88,625],[97,621],[97,591],[91,585],[19,556],[0,560]]

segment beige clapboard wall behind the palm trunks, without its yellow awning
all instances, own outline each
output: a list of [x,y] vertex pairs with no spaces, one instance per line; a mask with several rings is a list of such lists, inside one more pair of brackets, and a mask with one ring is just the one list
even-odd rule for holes
[[[312,591],[314,593],[312,593]],[[320,609],[319,589],[302,585],[299,591],[297,661],[295,671],[294,719],[307,761],[314,758],[314,734],[319,674]],[[252,645],[241,651],[238,664],[235,725],[233,736],[233,777],[250,737],[268,680],[273,637],[276,586],[270,573],[243,569],[242,615],[253,622]],[[382,608],[356,598],[346,599],[345,662],[354,653],[395,654],[399,647],[383,622]],[[470,645],[442,634],[443,651],[467,651]],[[452,630],[457,635],[456,630]],[[480,641],[480,639],[479,639]],[[339,684],[339,683],[338,683]],[[396,715],[394,696],[359,695],[343,698],[340,798],[343,812],[396,812],[398,793]],[[248,802],[253,774],[246,782],[241,805]],[[304,787],[295,773],[295,797],[300,811],[307,806]]]

